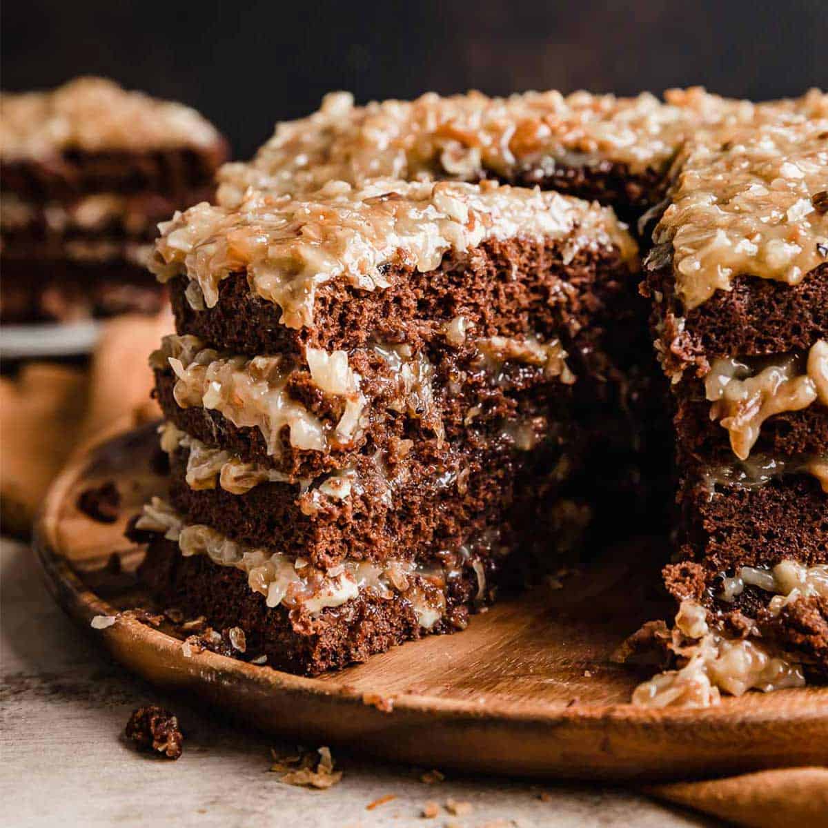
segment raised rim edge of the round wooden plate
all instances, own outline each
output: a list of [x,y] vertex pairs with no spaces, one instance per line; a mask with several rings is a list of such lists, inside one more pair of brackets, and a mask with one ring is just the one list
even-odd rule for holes
[[[95,615],[114,615],[118,610],[89,590],[70,567],[65,551],[60,547],[60,509],[66,494],[87,467],[89,453],[116,436],[124,436],[128,425],[130,424],[120,423],[98,439],[90,441],[74,455],[73,460],[55,479],[36,523],[34,547],[46,575],[47,586],[58,603],[87,630]],[[338,683],[330,679],[321,681],[295,676],[208,651],[185,657],[178,638],[129,617],[118,617],[111,627],[94,631],[94,636],[114,657],[124,663],[128,663],[129,659],[124,658],[123,653],[128,652],[129,647],[140,647],[143,644],[152,649],[159,664],[173,667],[182,679],[189,677],[196,681],[210,682],[218,679],[229,689],[246,689],[258,696],[269,694],[274,701],[281,699],[286,705],[291,704],[291,699],[302,699],[311,702],[315,700],[325,705],[339,705],[343,713],[358,709],[360,722],[380,729],[388,724],[389,714],[373,705],[367,705],[363,700],[363,691],[348,686],[347,681]],[[594,737],[596,729],[603,731],[606,725],[611,724],[616,732],[630,729],[640,733],[642,729],[652,729],[653,736],[661,739],[664,730],[669,729],[676,741],[686,742],[691,736],[704,739],[705,734],[710,739],[718,739],[722,731],[729,728],[744,731],[746,727],[763,729],[767,726],[774,730],[780,724],[780,717],[777,705],[773,702],[785,694],[789,699],[795,699],[795,703],[785,705],[786,732],[791,728],[802,728],[805,734],[815,734],[816,738],[819,738],[817,734],[824,734],[828,740],[828,687],[806,687],[768,695],[752,693],[742,699],[728,699],[721,705],[705,709],[650,710],[632,704],[590,704],[561,708],[544,703],[532,705],[522,702],[521,709],[516,710],[511,709],[508,701],[503,700],[495,700],[492,705],[481,708],[467,700],[410,692],[392,694],[392,701],[393,714],[407,720],[407,724],[426,725],[440,720],[443,724],[456,724],[459,727],[463,723],[475,722],[493,729],[510,726],[515,729],[541,729],[543,732],[561,729],[562,732],[566,731],[568,738],[576,738],[579,731]],[[773,700],[771,696],[774,697]],[[748,699],[746,704],[742,703]],[[662,735],[659,737],[658,734]],[[332,737],[331,741],[335,744],[336,740]],[[652,760],[650,766],[652,767]],[[604,773],[600,769],[596,770],[596,775],[602,773],[604,777],[621,776],[611,771]],[[566,772],[555,771],[552,775],[566,777]],[[582,773],[573,774],[573,777],[583,776]]]

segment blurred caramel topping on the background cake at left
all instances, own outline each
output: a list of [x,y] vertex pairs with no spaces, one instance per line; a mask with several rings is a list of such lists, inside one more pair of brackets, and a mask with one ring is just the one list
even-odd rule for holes
[[65,150],[142,152],[207,147],[219,133],[195,109],[78,78],[48,92],[0,95],[0,157],[38,160]]

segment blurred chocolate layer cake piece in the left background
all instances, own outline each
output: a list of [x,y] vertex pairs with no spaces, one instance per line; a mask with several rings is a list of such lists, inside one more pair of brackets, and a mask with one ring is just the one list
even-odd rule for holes
[[0,98],[0,320],[152,312],[156,225],[209,199],[227,158],[194,110],[76,79]]

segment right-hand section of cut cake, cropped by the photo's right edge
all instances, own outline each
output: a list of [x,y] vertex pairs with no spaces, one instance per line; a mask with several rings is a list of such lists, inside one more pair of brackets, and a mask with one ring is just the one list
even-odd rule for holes
[[754,678],[768,645],[825,673],[828,95],[689,143],[668,205],[645,286],[675,410],[667,587]]

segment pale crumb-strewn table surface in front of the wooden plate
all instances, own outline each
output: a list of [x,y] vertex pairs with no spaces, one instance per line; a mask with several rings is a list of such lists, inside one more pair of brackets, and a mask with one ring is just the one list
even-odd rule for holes
[[[31,551],[0,540],[0,824],[28,826],[357,826],[710,825],[635,792],[607,787],[449,777],[426,785],[416,768],[376,765],[335,753],[344,777],[327,791],[268,773],[260,734],[210,718],[181,698],[161,696],[94,650],[41,584]],[[137,753],[123,727],[139,705],[178,715],[185,752],[177,762]],[[308,747],[319,747],[309,745]],[[368,809],[383,797],[388,802]],[[445,802],[473,811],[451,816]],[[422,808],[436,802],[440,816]]]

